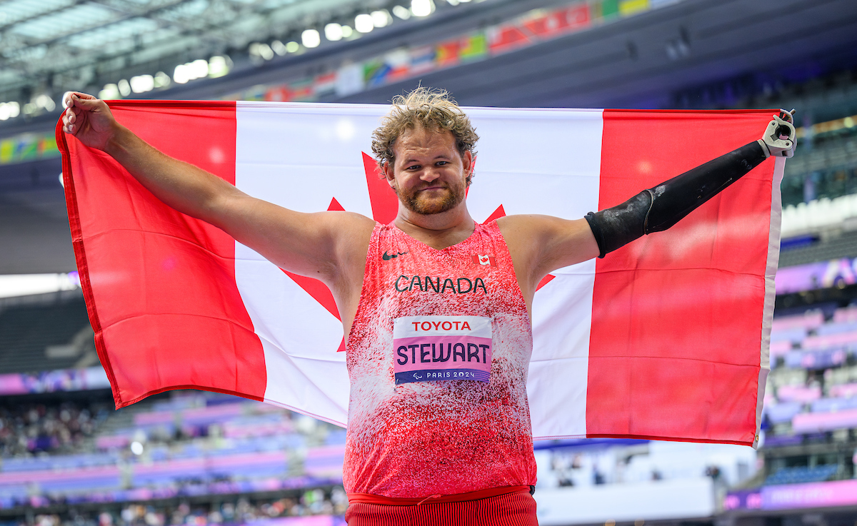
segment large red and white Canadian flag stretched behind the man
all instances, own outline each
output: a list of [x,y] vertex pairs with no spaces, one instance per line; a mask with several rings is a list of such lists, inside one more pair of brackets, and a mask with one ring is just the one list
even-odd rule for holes
[[[387,106],[110,104],[153,146],[249,194],[302,212],[395,217],[396,196],[364,153]],[[465,111],[481,136],[468,196],[477,221],[581,218],[617,205],[758,139],[772,113]],[[342,326],[321,282],[171,210],[59,125],[57,142],[81,284],[117,407],[196,387],[346,425]],[[542,280],[530,313],[536,438],[756,442],[783,166],[771,158],[672,229]],[[488,254],[474,261],[494,264]]]

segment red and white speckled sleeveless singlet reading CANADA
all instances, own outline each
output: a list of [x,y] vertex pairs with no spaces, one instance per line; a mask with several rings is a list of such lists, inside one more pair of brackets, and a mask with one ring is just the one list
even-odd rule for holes
[[376,224],[346,351],[346,492],[536,483],[530,318],[495,222],[442,250]]

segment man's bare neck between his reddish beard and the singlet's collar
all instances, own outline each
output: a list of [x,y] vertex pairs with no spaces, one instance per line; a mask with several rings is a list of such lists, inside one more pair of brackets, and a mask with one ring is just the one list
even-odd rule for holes
[[463,242],[476,228],[466,200],[452,210],[429,215],[412,212],[399,202],[399,214],[393,224],[408,236],[439,250]]

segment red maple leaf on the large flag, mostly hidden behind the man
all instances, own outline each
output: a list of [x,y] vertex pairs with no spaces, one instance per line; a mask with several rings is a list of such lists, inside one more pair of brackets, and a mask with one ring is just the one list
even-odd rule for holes
[[[399,198],[390,190],[390,186],[387,184],[384,175],[378,169],[378,164],[375,163],[375,159],[367,155],[366,152],[363,152],[363,169],[366,172],[366,186],[369,188],[369,203],[372,206],[372,218],[378,223],[388,224],[396,218],[396,213],[399,211]],[[330,205],[327,206],[327,210],[345,211],[345,208],[339,204],[336,197],[333,197],[330,200]],[[500,205],[497,206],[497,209],[494,210],[494,212],[492,212],[484,222],[489,223],[494,221],[494,219],[502,218],[505,215],[506,211],[503,209],[503,206]],[[299,276],[294,272],[286,270],[283,272],[285,272],[298,286],[305,290],[309,296],[312,296],[316,302],[319,302],[321,307],[326,308],[327,312],[336,316],[337,320],[342,320],[339,316],[339,309],[336,308],[336,302],[333,300],[333,294],[330,289],[327,288],[326,284],[321,283],[321,281],[315,278]],[[541,289],[553,278],[554,276],[551,274],[542,278],[542,281],[539,282],[536,290]],[[345,338],[342,338],[342,341],[339,343],[338,351],[341,350],[345,350]]]

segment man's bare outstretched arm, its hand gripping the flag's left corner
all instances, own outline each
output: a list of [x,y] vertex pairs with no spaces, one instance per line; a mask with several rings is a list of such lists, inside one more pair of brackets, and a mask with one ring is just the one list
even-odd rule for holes
[[63,102],[66,133],[111,155],[166,205],[225,230],[275,265],[336,284],[344,278],[344,266],[365,258],[375,225],[371,219],[349,212],[294,212],[255,199],[149,146],[117,123],[104,101],[67,93]]

